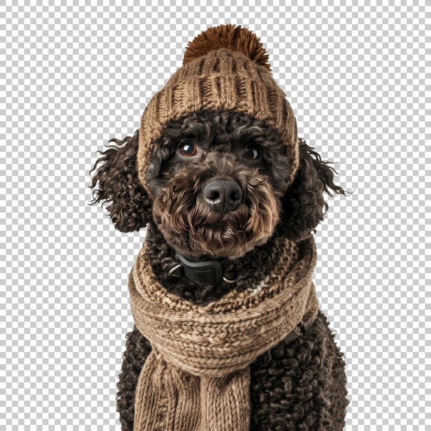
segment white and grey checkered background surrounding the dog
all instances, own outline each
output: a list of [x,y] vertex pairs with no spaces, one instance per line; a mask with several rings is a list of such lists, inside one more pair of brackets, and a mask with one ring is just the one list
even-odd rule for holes
[[187,42],[235,23],[268,50],[299,136],[354,190],[328,198],[316,235],[346,429],[430,430],[431,7],[19,3],[0,1],[0,429],[120,428],[145,232],[87,204],[89,171],[138,128]]

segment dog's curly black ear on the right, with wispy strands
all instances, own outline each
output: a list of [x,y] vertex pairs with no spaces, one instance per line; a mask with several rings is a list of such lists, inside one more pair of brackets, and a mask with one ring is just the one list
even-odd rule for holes
[[337,171],[313,150],[299,138],[299,169],[282,198],[281,225],[277,231],[292,241],[307,238],[324,220],[328,204],[323,192],[331,197],[334,195],[330,190],[346,195],[344,189],[334,184]]

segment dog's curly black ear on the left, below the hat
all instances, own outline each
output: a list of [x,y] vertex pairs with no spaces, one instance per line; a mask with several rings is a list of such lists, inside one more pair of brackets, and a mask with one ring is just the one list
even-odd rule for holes
[[[116,229],[121,232],[138,231],[151,220],[151,202],[140,184],[136,168],[139,129],[134,136],[123,140],[111,139],[105,151],[98,151],[101,157],[96,160],[90,187],[93,200],[90,204],[109,202],[107,210]],[[98,188],[96,185],[98,183]]]

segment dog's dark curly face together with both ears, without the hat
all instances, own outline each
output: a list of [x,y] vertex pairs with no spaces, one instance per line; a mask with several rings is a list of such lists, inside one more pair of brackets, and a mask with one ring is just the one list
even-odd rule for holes
[[[151,154],[145,182],[138,180],[138,131],[98,162],[91,187],[120,231],[154,220],[180,253],[234,259],[271,235],[306,238],[328,209],[322,193],[334,169],[299,140],[300,165],[291,178],[292,154],[275,129],[246,114],[203,111],[165,125]],[[313,157],[314,156],[314,157]],[[330,195],[332,196],[332,195]]]

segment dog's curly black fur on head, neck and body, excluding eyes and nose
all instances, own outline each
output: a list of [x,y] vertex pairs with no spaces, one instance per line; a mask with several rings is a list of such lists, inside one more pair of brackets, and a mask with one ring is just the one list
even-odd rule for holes
[[[196,258],[220,260],[224,275],[238,280],[233,286],[242,290],[271,273],[280,257],[282,238],[299,241],[315,230],[328,210],[324,192],[329,196],[333,196],[330,191],[346,194],[333,182],[337,172],[303,139],[299,139],[299,169],[293,182],[286,184],[291,154],[272,127],[246,114],[203,111],[165,125],[151,156],[146,183],[151,194],[167,199],[160,200],[162,204],[151,202],[136,171],[138,133],[137,130],[134,136],[123,140],[110,140],[118,146],[101,153],[92,169],[103,163],[90,186],[94,189],[92,203],[110,202],[107,209],[121,231],[136,231],[148,225],[149,260],[154,273],[169,291],[196,304],[219,299],[232,285],[197,286],[185,277],[179,280],[168,276],[175,264],[175,251],[183,251],[178,250],[180,247],[193,251],[190,249],[193,241],[182,229],[211,229],[205,226],[211,220],[218,226],[212,238],[218,240],[217,232],[223,226],[230,224],[231,228],[238,229],[247,218],[255,218],[254,229],[233,241],[244,241],[241,255],[217,255],[211,246],[206,247],[208,253],[200,249],[196,255]],[[178,156],[178,147],[189,140],[200,145],[200,158],[185,160]],[[241,157],[250,143],[259,145],[262,151],[258,162]],[[215,155],[220,158],[217,162]],[[244,204],[238,213],[218,220],[222,223],[217,224],[215,215],[196,202],[204,184],[221,174],[238,181],[244,192]],[[254,188],[247,188],[247,179]],[[178,202],[173,204],[171,199]],[[262,202],[271,200],[275,203],[262,206],[265,205]],[[253,205],[254,212],[250,208]],[[271,220],[262,217],[265,212],[268,215],[267,211],[272,211]],[[170,235],[174,227],[180,229]],[[264,239],[253,243],[259,235]],[[176,240],[178,237],[182,242]],[[117,392],[123,431],[133,429],[136,382],[151,351],[151,344],[136,327],[126,337]],[[291,344],[282,341],[251,365],[251,430],[341,430],[348,405],[344,366],[328,321],[319,312],[306,335]]]

